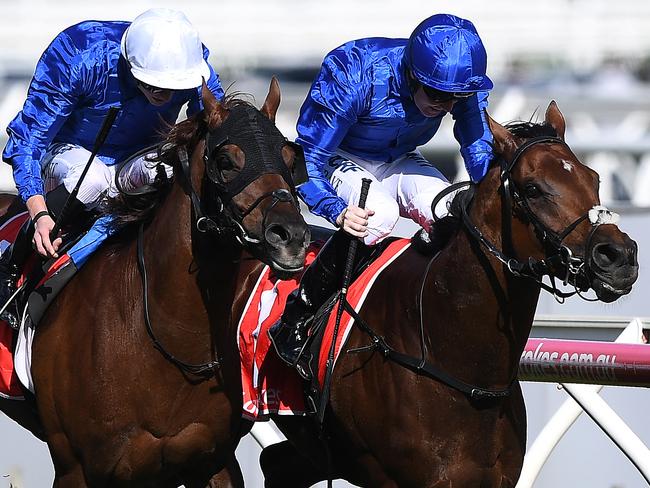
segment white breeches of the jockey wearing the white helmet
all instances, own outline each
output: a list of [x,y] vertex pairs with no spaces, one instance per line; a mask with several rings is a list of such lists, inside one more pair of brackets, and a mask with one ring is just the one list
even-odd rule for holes
[[[134,190],[152,183],[156,177],[156,164],[151,162],[151,156],[156,152],[145,152],[137,157],[129,158],[120,171],[120,185],[125,190]],[[90,151],[73,144],[52,144],[41,162],[43,184],[45,193],[54,190],[59,185],[65,185],[68,192],[72,192],[83,172]],[[101,156],[95,156],[88,173],[86,174],[77,199],[88,207],[97,205],[103,198],[117,195],[115,173],[121,164],[107,165]],[[164,166],[167,175],[171,176],[172,168]]]

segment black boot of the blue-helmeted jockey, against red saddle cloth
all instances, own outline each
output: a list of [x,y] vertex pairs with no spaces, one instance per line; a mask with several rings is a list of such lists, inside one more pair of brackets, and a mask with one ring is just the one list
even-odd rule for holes
[[[318,309],[341,288],[350,239],[342,230],[334,233],[303,274],[298,289],[289,295],[280,320],[269,329],[269,339],[280,359],[306,380],[311,378],[308,358],[303,355],[309,329]],[[368,249],[360,243],[356,263],[368,255]]]

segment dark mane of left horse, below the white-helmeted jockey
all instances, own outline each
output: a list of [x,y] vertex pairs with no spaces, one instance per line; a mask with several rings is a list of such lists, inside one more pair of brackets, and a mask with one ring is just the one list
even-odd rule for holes
[[[243,97],[249,97],[249,95],[234,92],[226,95],[220,103],[226,109],[232,109],[239,105],[253,106]],[[172,188],[172,180],[167,177],[162,165],[171,166],[174,168],[174,173],[177,174],[180,170],[178,148],[185,146],[188,150],[188,157],[191,158],[192,149],[208,132],[209,125],[210,121],[205,120],[204,111],[175,125],[168,125],[161,132],[162,142],[158,145],[158,154],[148,160],[151,161],[151,164],[161,165],[155,180],[149,185],[150,191],[142,194],[120,192],[115,197],[108,198],[101,206],[102,214],[113,217],[112,225],[117,229],[120,237],[130,236],[131,233],[126,231],[127,229],[135,230],[139,224],[148,223],[153,219],[160,204],[167,198]]]

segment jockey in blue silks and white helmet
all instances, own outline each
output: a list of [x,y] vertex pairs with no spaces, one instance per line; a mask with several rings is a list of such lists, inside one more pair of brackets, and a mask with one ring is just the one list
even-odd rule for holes
[[[217,99],[223,98],[208,55],[187,17],[164,8],[147,10],[133,22],[81,22],[54,38],[36,66],[22,111],[7,128],[2,158],[13,166],[31,225],[0,258],[0,306],[15,290],[30,241],[41,256],[57,257],[62,240],[51,239],[50,232],[89,161],[109,108],[119,108],[117,118],[77,198],[68,204],[72,215],[117,194],[118,163],[128,161],[119,172],[123,188],[153,181],[152,147],[184,104],[188,115],[202,109],[203,80]],[[133,154],[139,156],[128,158]],[[105,218],[93,228],[104,238],[111,232]],[[16,323],[7,311],[0,318]]]

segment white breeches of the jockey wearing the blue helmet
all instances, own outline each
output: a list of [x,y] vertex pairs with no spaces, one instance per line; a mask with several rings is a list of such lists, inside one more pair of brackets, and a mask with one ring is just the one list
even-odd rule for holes
[[[358,204],[361,179],[372,180],[366,208],[375,214],[368,220],[368,236],[364,239],[367,245],[390,235],[400,216],[429,230],[433,199],[450,183],[419,151],[407,153],[392,163],[368,161],[341,151],[339,156],[325,165],[324,172],[348,205]],[[453,196],[453,193],[447,195],[438,203],[437,217],[447,215],[447,205]]]

